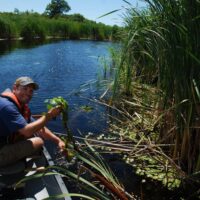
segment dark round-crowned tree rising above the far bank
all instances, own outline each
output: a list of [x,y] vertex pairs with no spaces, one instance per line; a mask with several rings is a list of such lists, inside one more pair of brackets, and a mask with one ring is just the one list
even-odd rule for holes
[[45,13],[52,18],[62,15],[69,10],[71,10],[71,8],[65,0],[51,0],[51,3],[46,7]]

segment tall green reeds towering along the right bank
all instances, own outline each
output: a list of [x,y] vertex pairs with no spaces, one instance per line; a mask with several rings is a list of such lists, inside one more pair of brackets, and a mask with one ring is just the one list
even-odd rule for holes
[[175,143],[171,156],[193,173],[200,170],[200,3],[146,3],[146,11],[130,7],[126,13],[114,87],[133,96],[134,81],[161,89],[157,107],[160,141]]

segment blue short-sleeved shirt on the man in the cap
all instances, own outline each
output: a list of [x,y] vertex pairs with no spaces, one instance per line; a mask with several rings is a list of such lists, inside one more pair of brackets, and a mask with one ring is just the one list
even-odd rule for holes
[[7,98],[0,97],[0,136],[8,136],[26,125],[17,106]]

